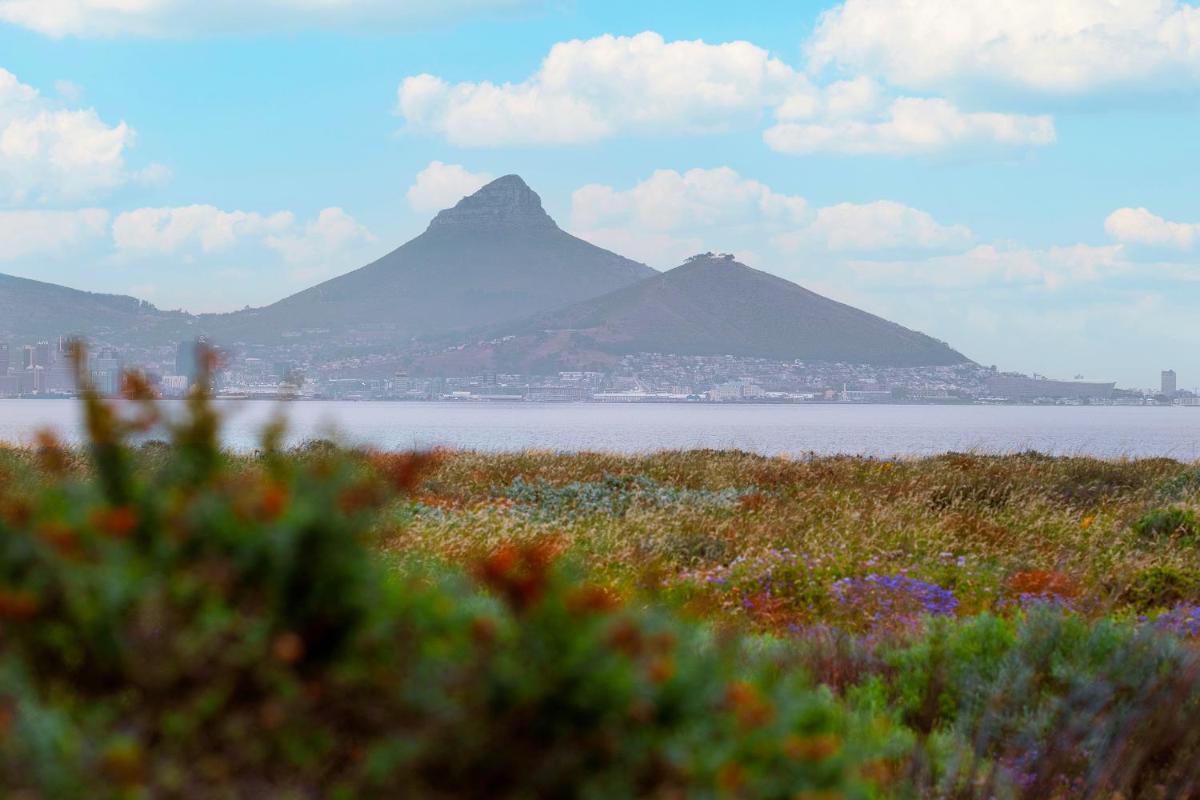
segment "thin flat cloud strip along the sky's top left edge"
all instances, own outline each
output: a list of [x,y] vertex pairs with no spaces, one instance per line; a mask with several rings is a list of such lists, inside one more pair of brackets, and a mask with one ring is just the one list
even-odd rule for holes
[[188,36],[379,26],[514,11],[535,0],[0,0],[0,22],[48,36]]

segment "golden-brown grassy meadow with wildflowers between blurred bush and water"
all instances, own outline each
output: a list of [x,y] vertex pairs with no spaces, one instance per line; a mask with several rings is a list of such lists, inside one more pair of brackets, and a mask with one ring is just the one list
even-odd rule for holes
[[896,624],[846,602],[883,578],[953,593],[956,616],[1134,619],[1200,602],[1198,503],[1200,469],[1165,459],[449,453],[384,549],[552,540],[614,588],[767,632]]

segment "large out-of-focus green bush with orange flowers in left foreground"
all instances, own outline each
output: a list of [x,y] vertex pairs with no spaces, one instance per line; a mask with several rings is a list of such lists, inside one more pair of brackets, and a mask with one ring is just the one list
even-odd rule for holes
[[[200,381],[200,386],[205,381]],[[433,455],[218,444],[203,391],[84,399],[0,476],[0,795],[875,796],[907,746],[745,640],[572,579],[553,541],[389,566]],[[132,408],[132,410],[131,410]],[[166,432],[169,449],[137,449]],[[19,459],[18,459],[19,461]]]

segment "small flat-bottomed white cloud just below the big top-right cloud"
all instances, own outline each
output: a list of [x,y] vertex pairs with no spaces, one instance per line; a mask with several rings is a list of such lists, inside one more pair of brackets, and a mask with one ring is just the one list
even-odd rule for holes
[[811,94],[788,98],[780,107],[779,124],[763,133],[763,140],[772,150],[791,155],[900,156],[962,148],[1039,146],[1056,138],[1054,120],[1046,115],[964,112],[940,97],[899,97],[882,104],[882,95],[865,94],[863,80],[847,83],[863,94],[856,97],[842,92],[824,102]]

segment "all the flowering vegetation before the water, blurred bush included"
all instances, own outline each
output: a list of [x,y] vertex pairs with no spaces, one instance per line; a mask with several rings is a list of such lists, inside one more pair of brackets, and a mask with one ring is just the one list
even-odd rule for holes
[[1194,465],[233,456],[131,393],[0,451],[2,796],[1200,796]]

